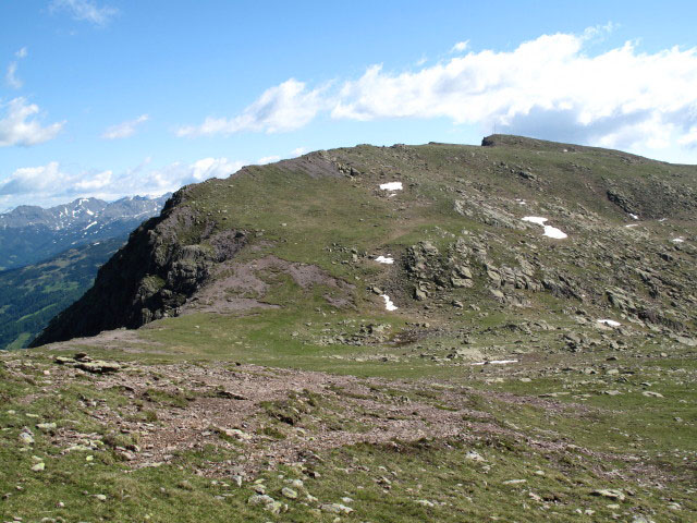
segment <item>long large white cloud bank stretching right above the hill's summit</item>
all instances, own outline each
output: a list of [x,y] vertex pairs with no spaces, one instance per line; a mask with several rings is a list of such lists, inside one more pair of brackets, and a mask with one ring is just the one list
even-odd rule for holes
[[[179,136],[293,131],[337,120],[439,119],[635,151],[697,146],[697,47],[645,52],[638,44],[594,52],[614,25],[558,33],[508,51],[453,46],[436,64],[311,88],[289,80],[242,113],[180,127]],[[466,54],[463,54],[467,51]]]

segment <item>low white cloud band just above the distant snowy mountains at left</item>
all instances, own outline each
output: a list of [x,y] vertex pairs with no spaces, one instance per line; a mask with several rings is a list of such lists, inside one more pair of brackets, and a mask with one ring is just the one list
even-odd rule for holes
[[159,196],[209,178],[227,178],[244,165],[228,158],[203,158],[193,163],[174,162],[159,168],[150,163],[150,159],[146,159],[121,173],[96,169],[73,172],[57,161],[16,169],[0,181],[0,207],[49,206],[90,196],[107,200],[136,194]]

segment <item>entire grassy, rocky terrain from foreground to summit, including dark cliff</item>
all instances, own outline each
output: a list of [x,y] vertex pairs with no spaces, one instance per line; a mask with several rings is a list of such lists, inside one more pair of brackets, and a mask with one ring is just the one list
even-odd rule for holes
[[694,520],[697,168],[484,144],[178,192],[0,360],[8,518]]

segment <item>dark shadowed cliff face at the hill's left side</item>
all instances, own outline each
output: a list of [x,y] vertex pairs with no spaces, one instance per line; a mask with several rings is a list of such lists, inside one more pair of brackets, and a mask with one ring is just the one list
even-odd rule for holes
[[[53,318],[32,346],[133,329],[179,314],[213,264],[234,256],[246,239],[237,231],[211,235],[211,224],[205,223],[192,243],[180,243],[179,228],[189,229],[196,221],[188,208],[178,206],[185,191],[176,193],[159,217],[131,233],[129,243],[99,269],[94,287]],[[198,244],[204,240],[208,245]]]

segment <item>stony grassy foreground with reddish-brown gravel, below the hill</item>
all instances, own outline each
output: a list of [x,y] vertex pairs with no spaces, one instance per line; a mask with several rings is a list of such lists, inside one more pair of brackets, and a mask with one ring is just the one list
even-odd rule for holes
[[638,523],[697,510],[687,346],[592,351],[571,367],[461,358],[455,379],[80,346],[1,360],[5,521]]

